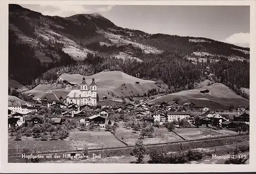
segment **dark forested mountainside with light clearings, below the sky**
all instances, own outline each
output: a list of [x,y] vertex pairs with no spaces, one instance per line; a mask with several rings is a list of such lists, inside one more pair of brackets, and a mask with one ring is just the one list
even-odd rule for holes
[[89,76],[116,70],[162,81],[170,93],[193,89],[205,79],[240,93],[249,88],[249,56],[249,48],[147,34],[95,13],[63,18],[9,5],[9,77],[29,89],[53,83],[63,73]]

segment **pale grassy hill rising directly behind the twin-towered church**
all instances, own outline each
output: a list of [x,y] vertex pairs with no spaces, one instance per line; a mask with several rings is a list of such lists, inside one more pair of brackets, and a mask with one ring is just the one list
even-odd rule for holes
[[[75,82],[78,85],[82,82],[83,78],[83,76],[80,74],[62,74],[60,77],[64,80]],[[100,98],[102,98],[102,96],[113,98],[112,92],[113,94],[120,97],[143,94],[147,92],[147,90],[153,88],[158,89],[155,81],[139,79],[120,71],[100,72],[92,76],[85,76],[86,82],[91,84],[93,77],[95,78],[95,83],[97,84],[97,92]],[[136,81],[138,81],[139,84],[137,84]],[[167,88],[167,86],[163,87]],[[53,83],[39,84],[34,89],[25,93],[33,94],[35,97],[44,97],[45,93],[50,92],[51,90],[52,93],[56,94],[58,97],[65,97],[70,92],[69,90],[56,90],[56,83]]]

